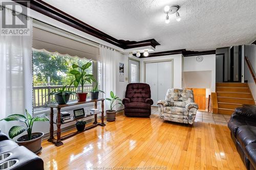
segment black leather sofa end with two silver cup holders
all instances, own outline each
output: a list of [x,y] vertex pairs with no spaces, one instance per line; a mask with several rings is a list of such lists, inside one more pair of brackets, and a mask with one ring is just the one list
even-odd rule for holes
[[[6,157],[5,155],[9,155]],[[12,165],[13,164],[13,165]],[[8,166],[12,165],[10,168]],[[0,169],[44,169],[44,161],[0,132]]]

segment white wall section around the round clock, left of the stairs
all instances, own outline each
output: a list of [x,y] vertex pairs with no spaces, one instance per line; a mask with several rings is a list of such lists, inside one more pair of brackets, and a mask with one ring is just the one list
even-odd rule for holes
[[[202,55],[203,61],[198,62],[197,56],[184,57],[183,87],[188,88],[209,88],[210,92],[215,92],[216,76],[216,56]],[[210,76],[210,78],[208,78]],[[195,83],[198,82],[197,84]],[[207,81],[207,82],[206,82]],[[192,85],[194,87],[189,87]]]

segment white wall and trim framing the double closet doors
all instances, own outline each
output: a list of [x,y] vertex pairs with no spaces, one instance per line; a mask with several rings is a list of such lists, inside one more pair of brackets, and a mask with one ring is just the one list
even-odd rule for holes
[[174,88],[182,88],[182,55],[168,55],[168,56],[159,56],[159,57],[148,57],[140,59],[140,82],[144,82],[144,62],[146,61],[161,61],[161,60],[170,60],[173,59],[173,84]]

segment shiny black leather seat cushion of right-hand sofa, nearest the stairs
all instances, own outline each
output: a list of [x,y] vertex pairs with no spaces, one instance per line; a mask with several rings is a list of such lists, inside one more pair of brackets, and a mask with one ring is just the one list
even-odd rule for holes
[[245,147],[250,143],[256,142],[256,127],[254,126],[241,126],[237,130],[237,140],[242,145],[242,148]]

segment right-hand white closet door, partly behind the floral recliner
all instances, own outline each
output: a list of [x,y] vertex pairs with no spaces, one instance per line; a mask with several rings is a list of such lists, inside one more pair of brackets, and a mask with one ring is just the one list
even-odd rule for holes
[[158,100],[164,100],[168,88],[172,88],[172,61],[158,63]]

